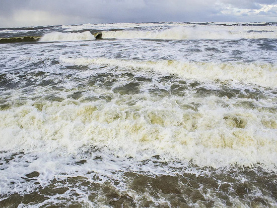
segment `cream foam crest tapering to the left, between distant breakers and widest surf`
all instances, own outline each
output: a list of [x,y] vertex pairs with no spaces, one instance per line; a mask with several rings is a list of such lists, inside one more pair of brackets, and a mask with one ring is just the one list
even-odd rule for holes
[[123,68],[155,70],[173,73],[178,76],[199,81],[230,81],[256,84],[263,87],[277,87],[277,66],[263,63],[202,63],[172,60],[130,61],[119,59],[61,58],[61,61],[75,65],[110,65]]

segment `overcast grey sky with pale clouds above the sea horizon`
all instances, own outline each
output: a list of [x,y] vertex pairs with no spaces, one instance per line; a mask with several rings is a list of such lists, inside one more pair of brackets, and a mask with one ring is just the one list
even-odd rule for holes
[[277,0],[0,0],[0,27],[116,22],[277,22]]

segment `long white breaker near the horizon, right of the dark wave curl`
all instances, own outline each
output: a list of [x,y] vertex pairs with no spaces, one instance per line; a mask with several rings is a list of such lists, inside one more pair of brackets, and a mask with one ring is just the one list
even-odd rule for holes
[[[178,26],[165,30],[121,30],[103,32],[103,38],[142,38],[142,39],[170,39],[170,40],[186,40],[186,39],[259,39],[259,38],[277,38],[276,27],[271,27],[273,31],[251,31],[252,27],[231,27],[223,26]],[[262,28],[263,30],[265,28]],[[268,28],[269,29],[269,28]]]

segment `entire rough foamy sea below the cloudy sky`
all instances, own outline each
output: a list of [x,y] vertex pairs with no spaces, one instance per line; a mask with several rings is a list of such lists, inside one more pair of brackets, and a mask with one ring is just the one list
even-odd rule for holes
[[277,23],[0,43],[1,207],[277,207]]

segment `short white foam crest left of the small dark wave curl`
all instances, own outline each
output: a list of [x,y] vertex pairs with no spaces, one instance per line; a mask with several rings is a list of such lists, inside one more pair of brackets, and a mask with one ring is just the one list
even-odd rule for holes
[[80,41],[80,40],[94,40],[95,37],[89,31],[85,32],[50,32],[41,37],[41,42],[55,42],[55,41]]

